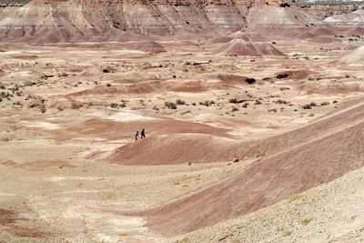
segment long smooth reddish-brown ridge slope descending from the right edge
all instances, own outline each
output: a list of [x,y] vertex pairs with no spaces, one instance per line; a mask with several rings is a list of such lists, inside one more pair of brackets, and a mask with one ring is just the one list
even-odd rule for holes
[[147,226],[185,233],[267,207],[364,165],[364,102],[263,141],[277,151],[236,175],[140,213]]

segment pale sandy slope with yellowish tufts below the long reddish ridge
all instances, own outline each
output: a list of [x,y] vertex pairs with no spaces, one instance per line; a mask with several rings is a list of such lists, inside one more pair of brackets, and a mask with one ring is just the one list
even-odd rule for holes
[[364,169],[242,218],[176,238],[188,242],[362,242]]

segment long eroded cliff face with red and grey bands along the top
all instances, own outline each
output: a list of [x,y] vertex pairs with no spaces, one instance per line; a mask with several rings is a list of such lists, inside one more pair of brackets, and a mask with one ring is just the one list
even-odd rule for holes
[[289,0],[35,0],[0,9],[0,41],[113,41],[133,34],[189,38],[321,24]]

